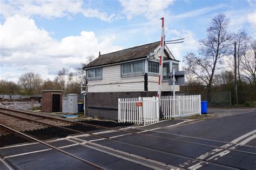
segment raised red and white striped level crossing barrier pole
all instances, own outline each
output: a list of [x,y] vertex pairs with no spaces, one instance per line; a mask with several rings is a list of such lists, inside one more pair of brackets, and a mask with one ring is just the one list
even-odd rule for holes
[[162,20],[162,32],[161,32],[161,43],[160,43],[160,63],[159,63],[159,76],[158,76],[158,92],[157,97],[161,98],[161,86],[162,86],[162,75],[163,75],[163,60],[164,60],[164,17]]

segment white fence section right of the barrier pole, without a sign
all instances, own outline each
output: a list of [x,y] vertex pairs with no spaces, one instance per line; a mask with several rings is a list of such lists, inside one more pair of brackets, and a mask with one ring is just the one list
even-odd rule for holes
[[162,96],[160,105],[165,119],[201,114],[201,95]]

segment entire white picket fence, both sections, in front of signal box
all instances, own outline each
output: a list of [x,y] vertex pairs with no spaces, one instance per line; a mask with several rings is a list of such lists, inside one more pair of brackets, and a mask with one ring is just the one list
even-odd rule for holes
[[[165,119],[201,114],[201,96],[163,96],[160,107]],[[118,122],[147,125],[158,121],[158,97],[118,99]]]

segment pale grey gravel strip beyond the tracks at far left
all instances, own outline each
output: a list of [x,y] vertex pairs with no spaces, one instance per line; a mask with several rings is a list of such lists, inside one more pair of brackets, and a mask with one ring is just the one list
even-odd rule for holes
[[2,101],[0,106],[5,106],[6,108],[29,110],[31,107],[40,107],[41,103],[33,101],[33,106],[30,101]]

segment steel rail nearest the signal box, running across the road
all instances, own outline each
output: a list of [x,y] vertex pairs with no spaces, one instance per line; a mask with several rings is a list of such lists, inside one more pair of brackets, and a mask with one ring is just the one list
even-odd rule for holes
[[[2,107],[0,107],[0,109],[1,109],[1,108],[2,108]],[[9,110],[9,109],[4,108],[4,110]],[[24,111],[17,111],[17,110],[9,110],[9,111],[21,112],[21,113],[28,114],[28,115],[37,115],[37,114],[28,113],[28,112],[24,112]],[[39,116],[39,117],[43,117],[43,118],[49,118],[49,119],[55,119],[55,120],[65,121],[65,122],[68,122],[68,123],[76,123],[76,124],[84,125],[84,126],[100,127],[100,128],[103,128],[103,129],[105,128],[105,129],[107,129],[107,130],[114,130],[114,131],[125,132],[125,133],[132,133],[132,134],[141,134],[141,135],[146,135],[146,136],[155,137],[155,138],[161,138],[161,139],[167,139],[167,140],[185,142],[185,143],[187,143],[187,144],[201,145],[201,146],[213,147],[213,148],[218,148],[218,149],[225,149],[225,150],[233,151],[233,152],[240,152],[240,153],[246,153],[246,154],[256,155],[256,153],[253,153],[253,152],[241,151],[241,150],[237,150],[237,149],[224,148],[224,147],[213,146],[213,145],[207,145],[207,144],[199,144],[199,143],[197,143],[197,142],[191,142],[191,141],[185,141],[185,140],[179,140],[179,139],[171,139],[171,138],[159,137],[159,136],[157,136],[157,135],[144,134],[144,133],[137,133],[137,132],[132,132],[132,131],[128,131],[128,130],[117,130],[116,128],[112,128],[112,127],[104,127],[104,126],[86,124],[86,123],[81,123],[81,122],[78,122],[78,121],[64,120],[64,119],[53,118],[53,117],[48,117],[48,116],[44,116],[44,115],[38,115],[38,116]],[[84,132],[83,132],[83,133],[84,133]],[[87,133],[87,132],[86,132],[86,133]],[[88,134],[90,134],[90,133],[88,133]],[[95,134],[92,134],[92,135],[95,135]],[[232,143],[228,143],[228,144],[232,144]]]

